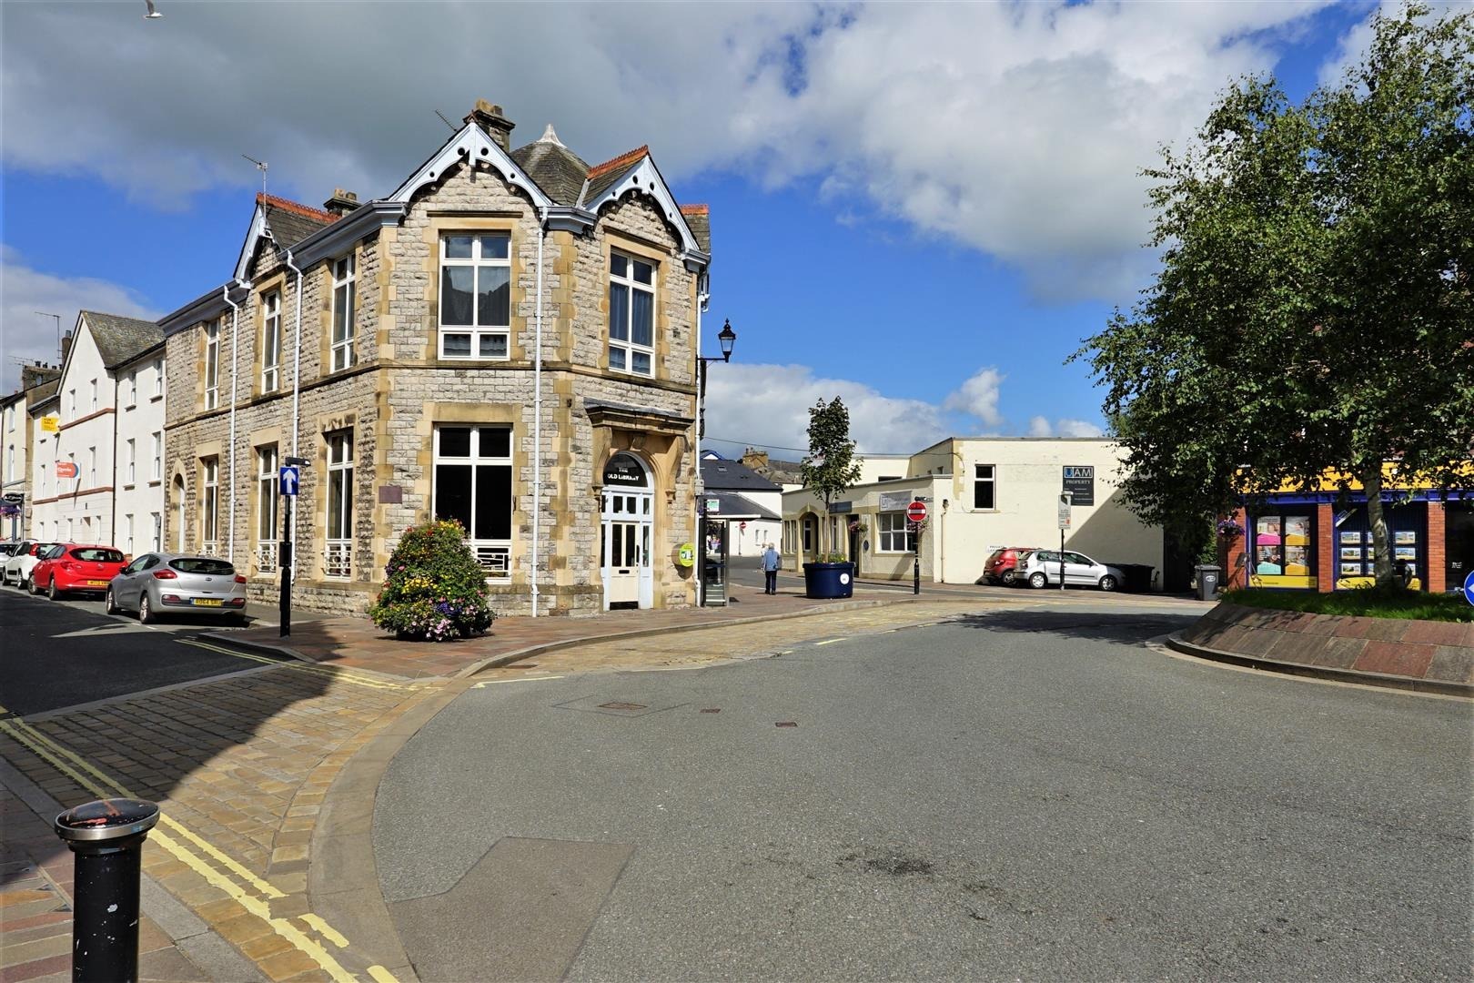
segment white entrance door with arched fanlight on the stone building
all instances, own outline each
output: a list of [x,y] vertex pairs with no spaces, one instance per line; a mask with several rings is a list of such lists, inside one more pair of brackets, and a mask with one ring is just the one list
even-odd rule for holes
[[[621,480],[612,480],[612,476]],[[604,609],[612,604],[653,607],[650,541],[654,534],[654,495],[644,464],[629,454],[618,454],[606,467],[600,522],[598,567],[604,582]]]

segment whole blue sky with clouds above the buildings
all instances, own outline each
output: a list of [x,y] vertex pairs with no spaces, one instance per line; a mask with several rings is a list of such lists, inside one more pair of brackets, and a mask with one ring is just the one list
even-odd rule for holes
[[[712,209],[708,442],[797,460],[840,396],[861,452],[1095,436],[1066,364],[1156,271],[1142,168],[1215,97],[1293,99],[1372,3],[0,3],[0,343],[159,317],[233,271],[268,190],[379,197],[476,99],[513,144],[649,144]],[[41,311],[44,314],[37,314]]]

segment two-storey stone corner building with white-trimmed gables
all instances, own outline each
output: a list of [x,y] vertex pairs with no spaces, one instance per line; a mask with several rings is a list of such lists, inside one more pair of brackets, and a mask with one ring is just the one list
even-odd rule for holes
[[302,607],[364,610],[432,517],[501,613],[691,603],[708,209],[646,147],[590,167],[511,130],[478,102],[385,197],[258,196],[233,276],[161,321],[170,545],[273,594],[299,457]]

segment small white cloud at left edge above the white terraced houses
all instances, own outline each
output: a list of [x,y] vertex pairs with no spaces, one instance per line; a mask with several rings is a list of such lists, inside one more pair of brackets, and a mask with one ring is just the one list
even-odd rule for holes
[[56,321],[37,311],[59,314],[62,330],[77,326],[78,311],[105,311],[127,317],[158,317],[137,293],[108,280],[57,277],[28,267],[21,253],[0,246],[0,349],[4,351],[3,389],[10,392],[21,377],[12,360],[56,364]]

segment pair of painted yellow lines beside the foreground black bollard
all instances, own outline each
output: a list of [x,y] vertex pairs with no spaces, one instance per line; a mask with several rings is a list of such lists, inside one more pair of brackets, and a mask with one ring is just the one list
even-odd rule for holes
[[[0,732],[4,732],[22,746],[28,747],[41,760],[47,762],[52,768],[62,772],[99,799],[112,799],[116,796],[128,799],[139,797],[118,781],[97,771],[90,762],[66,747],[62,747],[25,721],[0,721]],[[256,877],[236,859],[227,856],[218,847],[167,815],[159,815],[159,824],[149,834],[149,842],[158,843],[165,852],[174,856],[174,859],[203,877],[211,886],[218,887],[221,892],[228,895],[248,912],[267,923],[282,939],[320,965],[335,983],[357,983],[358,977],[345,970],[343,965],[335,959],[320,942],[308,936],[302,928],[298,928],[290,920],[276,918],[271,915],[271,899],[286,898],[282,890]],[[333,930],[332,926],[317,915],[301,915],[301,921],[336,948],[348,948],[348,939]],[[394,974],[382,965],[368,967],[368,977],[374,980],[374,983],[395,983]]]

